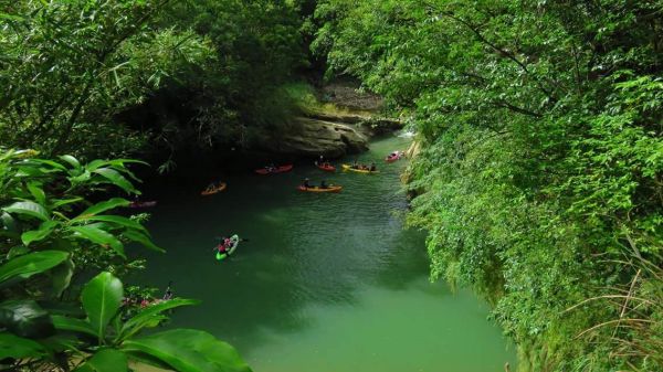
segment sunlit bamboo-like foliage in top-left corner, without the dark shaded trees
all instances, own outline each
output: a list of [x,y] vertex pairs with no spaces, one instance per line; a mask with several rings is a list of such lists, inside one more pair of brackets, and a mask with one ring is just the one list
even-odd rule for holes
[[209,62],[209,42],[155,26],[166,1],[15,1],[0,8],[0,141],[116,156],[145,134],[115,116]]

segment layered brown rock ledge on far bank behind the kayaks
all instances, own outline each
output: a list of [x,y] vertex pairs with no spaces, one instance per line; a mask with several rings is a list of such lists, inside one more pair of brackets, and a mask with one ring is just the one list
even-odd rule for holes
[[368,138],[352,126],[313,118],[297,118],[296,126],[292,134],[271,138],[263,147],[284,155],[327,158],[368,150]]

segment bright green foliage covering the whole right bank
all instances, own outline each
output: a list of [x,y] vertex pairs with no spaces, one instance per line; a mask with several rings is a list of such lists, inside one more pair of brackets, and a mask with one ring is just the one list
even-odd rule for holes
[[494,304],[523,370],[663,369],[662,13],[318,2],[328,74],[411,114],[411,222],[429,230],[432,277]]

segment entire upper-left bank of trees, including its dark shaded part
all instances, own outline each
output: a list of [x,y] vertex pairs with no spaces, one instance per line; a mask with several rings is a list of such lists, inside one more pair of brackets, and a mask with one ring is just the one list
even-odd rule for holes
[[2,1],[0,142],[118,157],[282,128],[306,3]]

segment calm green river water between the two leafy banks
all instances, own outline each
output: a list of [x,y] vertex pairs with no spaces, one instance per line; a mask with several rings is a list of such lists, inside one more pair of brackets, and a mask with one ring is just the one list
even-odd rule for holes
[[[172,326],[232,343],[255,372],[515,366],[487,306],[429,283],[424,235],[402,228],[406,162],[381,159],[408,142],[373,140],[358,157],[376,160],[379,174],[296,164],[288,173],[224,178],[228,189],[212,196],[199,195],[204,184],[164,187],[148,227],[168,253],[149,255],[140,281],[165,288],[172,280],[176,296],[202,300],[178,309]],[[305,177],[344,190],[296,191]],[[214,237],[230,233],[250,242],[217,262]]]

